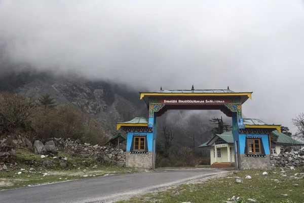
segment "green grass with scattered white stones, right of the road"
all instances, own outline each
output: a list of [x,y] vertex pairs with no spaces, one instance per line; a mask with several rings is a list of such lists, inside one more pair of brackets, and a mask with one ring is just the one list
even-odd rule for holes
[[[287,170],[287,169],[286,169]],[[243,170],[236,174],[229,174],[224,178],[210,179],[198,184],[183,184],[161,192],[147,193],[134,196],[127,201],[117,203],[141,202],[222,202],[234,195],[240,197],[238,202],[247,202],[248,198],[263,203],[296,203],[304,199],[303,168],[286,171],[287,177],[282,177],[281,169],[267,170],[269,175],[262,175],[262,170]],[[258,175],[257,175],[258,174]],[[252,179],[245,179],[249,175]],[[235,183],[240,177],[241,184]],[[302,177],[302,178],[301,178]],[[297,185],[294,185],[297,184]],[[282,194],[288,194],[283,196]]]

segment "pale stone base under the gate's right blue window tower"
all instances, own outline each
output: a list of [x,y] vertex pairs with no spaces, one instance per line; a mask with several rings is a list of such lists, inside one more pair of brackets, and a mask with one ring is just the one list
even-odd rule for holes
[[238,166],[240,170],[244,169],[269,169],[271,168],[270,155],[266,157],[251,157],[245,154],[238,154]]

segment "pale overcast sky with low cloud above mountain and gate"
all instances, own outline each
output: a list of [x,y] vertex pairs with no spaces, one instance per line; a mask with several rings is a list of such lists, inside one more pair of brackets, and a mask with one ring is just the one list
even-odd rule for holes
[[304,112],[304,1],[0,0],[0,44],[138,90],[253,91],[243,113],[290,128]]

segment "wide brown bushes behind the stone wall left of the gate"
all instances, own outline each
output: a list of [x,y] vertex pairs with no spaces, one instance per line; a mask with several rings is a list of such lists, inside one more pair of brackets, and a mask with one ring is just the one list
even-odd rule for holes
[[91,144],[105,143],[100,123],[69,104],[40,108],[32,119],[32,127],[39,139],[70,138]]

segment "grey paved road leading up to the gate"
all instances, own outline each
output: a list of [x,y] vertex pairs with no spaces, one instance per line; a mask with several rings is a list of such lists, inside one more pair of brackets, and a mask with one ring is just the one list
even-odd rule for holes
[[219,171],[206,169],[183,169],[88,178],[0,191],[0,202],[112,202],[218,173]]

